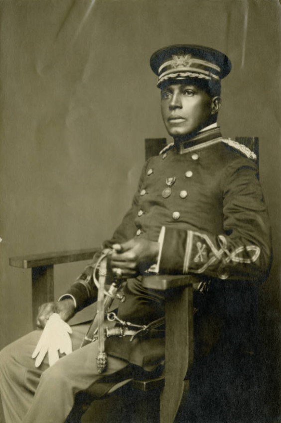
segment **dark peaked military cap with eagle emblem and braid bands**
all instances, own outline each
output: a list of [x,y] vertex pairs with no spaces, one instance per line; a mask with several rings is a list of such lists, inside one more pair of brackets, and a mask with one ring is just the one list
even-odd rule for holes
[[218,50],[201,45],[178,44],[161,48],[152,54],[150,66],[163,82],[199,78],[220,81],[231,70],[229,58]]

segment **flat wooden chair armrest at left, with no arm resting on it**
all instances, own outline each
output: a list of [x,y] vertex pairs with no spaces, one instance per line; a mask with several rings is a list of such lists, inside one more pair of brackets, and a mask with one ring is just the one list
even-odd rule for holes
[[99,248],[82,250],[57,251],[43,254],[32,254],[20,257],[11,257],[10,266],[28,269],[31,267],[50,266],[54,264],[72,263],[75,261],[90,260]]

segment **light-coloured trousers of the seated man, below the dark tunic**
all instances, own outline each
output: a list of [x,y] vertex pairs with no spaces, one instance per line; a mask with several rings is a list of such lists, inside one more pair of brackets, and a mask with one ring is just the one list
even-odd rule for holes
[[[82,391],[95,398],[117,382],[132,379],[127,362],[108,357],[106,371],[97,371],[97,342],[79,348],[88,325],[72,326],[73,352],[52,367],[48,358],[39,368],[31,355],[42,331],[36,330],[0,352],[0,390],[6,423],[63,423]],[[98,421],[98,419],[97,419]]]

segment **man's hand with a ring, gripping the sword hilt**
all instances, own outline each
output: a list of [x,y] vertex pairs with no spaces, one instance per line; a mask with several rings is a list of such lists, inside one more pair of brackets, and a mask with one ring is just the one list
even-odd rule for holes
[[147,270],[156,263],[159,254],[159,243],[143,238],[132,238],[123,244],[114,244],[112,248],[114,251],[109,256],[112,271],[125,277]]

